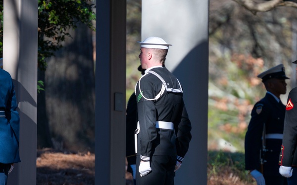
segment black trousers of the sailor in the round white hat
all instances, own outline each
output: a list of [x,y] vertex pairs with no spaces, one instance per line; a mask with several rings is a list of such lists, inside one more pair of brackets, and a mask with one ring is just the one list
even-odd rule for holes
[[137,185],[174,185],[174,168],[176,156],[153,155],[150,161],[151,172],[140,177],[140,157],[136,159],[136,184]]

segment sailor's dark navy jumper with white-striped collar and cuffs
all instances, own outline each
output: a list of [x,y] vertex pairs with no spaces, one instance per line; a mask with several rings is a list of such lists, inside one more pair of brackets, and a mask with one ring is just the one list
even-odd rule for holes
[[[191,122],[183,101],[183,93],[177,78],[166,68],[153,68],[164,79],[167,90],[157,100],[153,99],[161,91],[162,81],[154,74],[145,74],[136,84],[136,97],[140,133],[137,155],[178,156],[182,162],[191,141]],[[139,83],[142,94],[139,90]],[[174,123],[174,130],[157,129],[156,121]]]

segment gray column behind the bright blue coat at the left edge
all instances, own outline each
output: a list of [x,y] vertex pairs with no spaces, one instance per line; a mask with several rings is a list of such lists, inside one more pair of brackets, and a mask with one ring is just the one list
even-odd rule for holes
[[20,158],[8,185],[36,184],[38,0],[4,0],[3,69],[14,79]]

